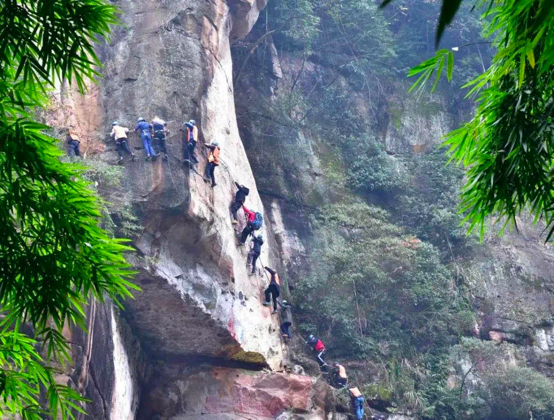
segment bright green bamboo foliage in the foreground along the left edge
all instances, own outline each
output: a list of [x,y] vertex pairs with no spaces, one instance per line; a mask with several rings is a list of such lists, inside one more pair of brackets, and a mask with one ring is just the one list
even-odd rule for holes
[[135,287],[122,256],[131,248],[98,226],[85,168],[61,163],[57,140],[34,117],[57,79],[85,89],[100,64],[93,41],[114,23],[115,8],[103,0],[0,6],[0,416],[82,411],[78,392],[58,384],[49,364],[69,361],[62,328],[85,327],[90,298],[117,302]]

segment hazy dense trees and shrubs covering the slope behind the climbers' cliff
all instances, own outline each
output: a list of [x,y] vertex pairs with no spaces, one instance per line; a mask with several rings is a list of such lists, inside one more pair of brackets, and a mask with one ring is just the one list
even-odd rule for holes
[[[300,208],[331,202],[300,215],[312,213],[304,224],[313,238],[308,264],[295,267],[293,280],[300,331],[317,332],[332,360],[351,361],[358,386],[393,411],[425,419],[527,420],[532,408],[534,418],[551,418],[551,379],[514,363],[525,356],[512,357],[511,346],[464,338],[476,314],[460,260],[481,246],[474,234],[466,236],[467,213],[458,211],[464,169],[447,165],[444,149],[411,152],[406,145],[398,153],[382,140],[388,130],[402,129],[403,112],[430,119],[446,111],[454,124],[471,117],[460,88],[494,57],[493,34],[480,35],[491,16],[481,19],[470,13],[473,3],[461,3],[441,39],[447,51],[458,50],[455,60],[444,55],[452,82],[437,78],[433,95],[420,92],[416,102],[403,80],[433,55],[440,2],[391,6],[381,12],[373,1],[276,1],[254,28],[254,39],[271,32],[283,64],[270,100],[257,97],[256,109],[242,102],[251,97],[237,100],[242,138],[261,156],[259,168],[251,160],[254,170]],[[248,47],[234,45],[235,68]],[[269,68],[268,49],[258,52],[257,64],[243,69],[246,94],[272,83],[259,67]],[[324,163],[327,196],[288,172],[275,176],[279,165],[306,170],[305,143]],[[265,154],[275,148],[277,164]],[[468,373],[466,360],[484,363],[488,373]],[[462,382],[466,376],[471,383]]]

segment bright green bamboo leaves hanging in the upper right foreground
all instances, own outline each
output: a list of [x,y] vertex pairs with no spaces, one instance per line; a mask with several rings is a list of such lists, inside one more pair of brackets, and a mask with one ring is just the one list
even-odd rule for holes
[[[387,4],[391,0],[383,3]],[[437,43],[461,0],[443,0]],[[554,3],[551,0],[478,0],[484,36],[496,55],[483,74],[465,85],[476,97],[475,116],[446,136],[452,160],[468,167],[461,210],[484,231],[488,216],[513,222],[524,209],[554,235]],[[413,68],[422,88],[441,73],[450,80],[454,53],[441,49]]]

